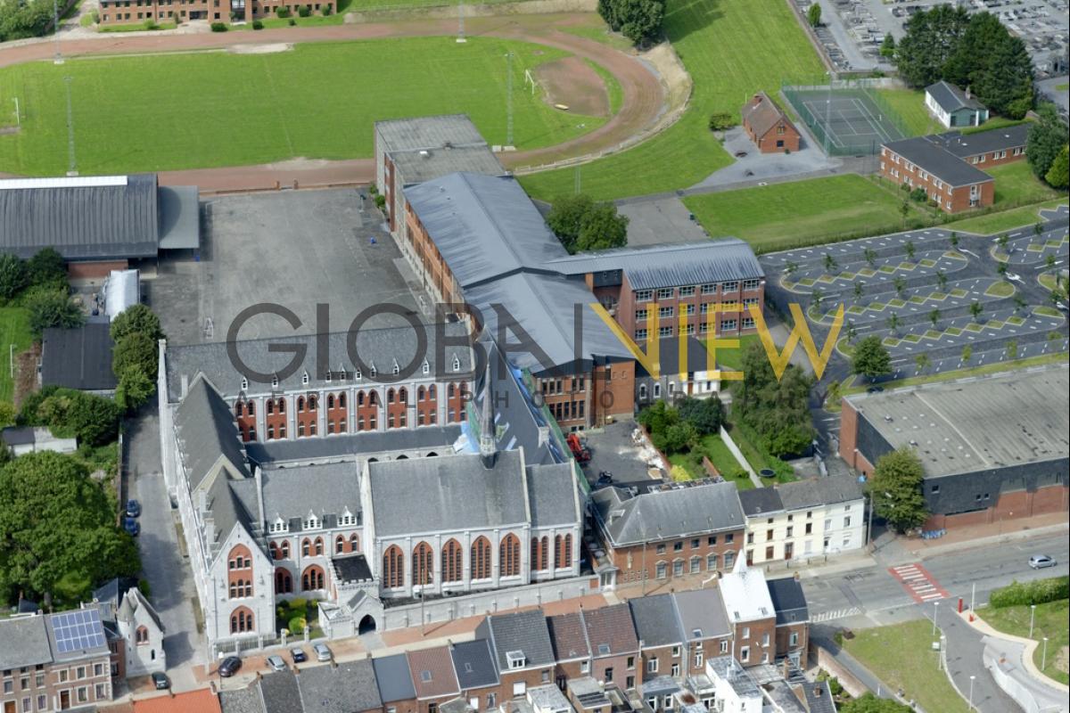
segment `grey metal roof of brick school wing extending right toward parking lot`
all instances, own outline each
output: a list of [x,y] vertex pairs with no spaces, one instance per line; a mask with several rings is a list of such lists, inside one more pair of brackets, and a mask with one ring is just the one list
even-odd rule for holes
[[547,267],[567,275],[623,269],[633,290],[765,277],[750,245],[737,237],[581,252],[555,260]]

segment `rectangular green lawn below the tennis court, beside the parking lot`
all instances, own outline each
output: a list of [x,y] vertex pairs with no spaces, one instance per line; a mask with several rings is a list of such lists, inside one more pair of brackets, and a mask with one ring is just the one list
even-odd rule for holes
[[[687,205],[710,235],[734,235],[756,252],[902,230],[902,200],[853,173],[689,196]],[[912,217],[918,217],[912,204]]]

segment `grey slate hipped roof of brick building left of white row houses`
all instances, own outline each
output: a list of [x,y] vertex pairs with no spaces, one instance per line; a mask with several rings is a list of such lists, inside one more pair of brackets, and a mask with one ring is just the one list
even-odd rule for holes
[[743,509],[735,483],[707,483],[632,496],[605,487],[592,496],[603,530],[616,546],[702,532],[739,529]]

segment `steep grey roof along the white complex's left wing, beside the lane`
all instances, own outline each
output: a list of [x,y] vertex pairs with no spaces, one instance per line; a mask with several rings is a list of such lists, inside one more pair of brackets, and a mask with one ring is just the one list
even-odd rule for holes
[[203,378],[174,409],[174,427],[190,487],[200,484],[220,455],[239,472],[249,474],[230,407]]

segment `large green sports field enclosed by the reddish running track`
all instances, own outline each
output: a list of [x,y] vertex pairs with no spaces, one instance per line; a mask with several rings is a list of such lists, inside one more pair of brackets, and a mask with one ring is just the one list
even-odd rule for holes
[[524,90],[524,69],[565,52],[490,37],[30,62],[0,69],[0,96],[19,97],[25,112],[22,130],[0,137],[0,171],[66,171],[65,76],[82,173],[369,157],[373,121],[437,113],[467,112],[489,142],[503,143],[507,50],[515,53],[518,148],[560,143],[605,123],[556,111]]

